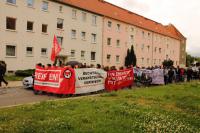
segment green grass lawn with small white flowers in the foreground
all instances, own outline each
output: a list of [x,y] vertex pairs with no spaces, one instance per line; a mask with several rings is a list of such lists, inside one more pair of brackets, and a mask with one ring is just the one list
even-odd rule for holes
[[0,109],[0,132],[200,132],[200,83],[122,90]]

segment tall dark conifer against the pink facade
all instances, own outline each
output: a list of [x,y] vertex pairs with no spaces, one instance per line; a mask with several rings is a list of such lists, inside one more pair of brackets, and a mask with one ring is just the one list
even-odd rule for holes
[[134,52],[134,47],[133,45],[131,46],[131,50],[127,50],[127,55],[125,58],[125,66],[129,66],[129,65],[133,65],[136,66],[137,63],[137,59],[136,59],[136,55]]

